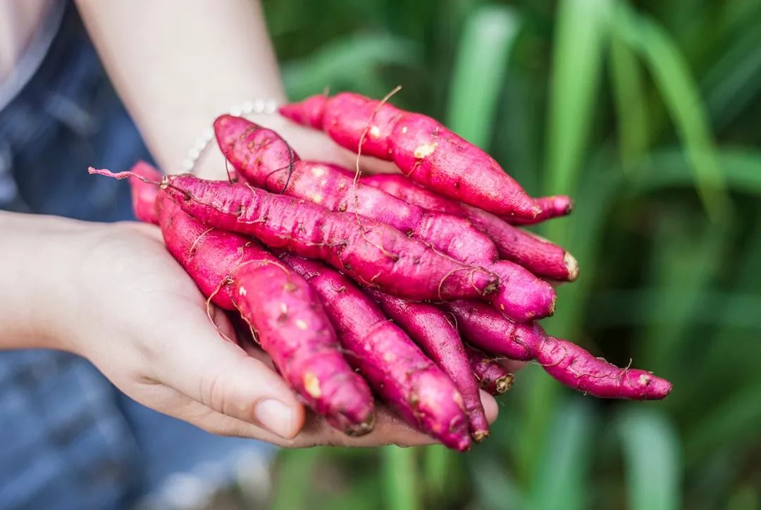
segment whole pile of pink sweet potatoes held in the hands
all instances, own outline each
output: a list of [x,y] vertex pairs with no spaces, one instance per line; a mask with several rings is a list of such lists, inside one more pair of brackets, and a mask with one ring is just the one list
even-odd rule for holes
[[393,161],[360,176],[303,161],[276,132],[215,121],[230,180],[129,172],[135,215],[209,298],[240,314],[314,413],[346,434],[370,432],[374,397],[447,447],[489,434],[479,387],[501,394],[500,359],[536,360],[597,397],[661,399],[671,385],[618,368],[536,320],[550,281],[578,276],[562,247],[521,230],[567,215],[566,196],[533,199],[484,151],[428,116],[358,94],[282,107],[295,122]]

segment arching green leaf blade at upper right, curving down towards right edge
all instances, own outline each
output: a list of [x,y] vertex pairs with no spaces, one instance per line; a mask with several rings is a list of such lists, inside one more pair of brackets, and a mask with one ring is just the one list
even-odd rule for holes
[[[621,19],[621,18],[619,18]],[[696,187],[708,215],[723,222],[731,212],[715,141],[697,85],[677,44],[658,23],[629,13],[619,33],[642,56],[695,171]]]

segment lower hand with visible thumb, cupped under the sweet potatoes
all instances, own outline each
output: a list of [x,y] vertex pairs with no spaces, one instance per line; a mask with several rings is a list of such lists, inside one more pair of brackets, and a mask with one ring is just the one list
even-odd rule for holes
[[[61,242],[59,240],[59,242]],[[305,413],[258,349],[234,330],[164,249],[158,228],[121,223],[72,234],[54,297],[59,345],[91,360],[129,397],[209,432],[282,446],[424,445],[431,438],[379,410],[374,432],[349,438]],[[212,320],[214,321],[212,324]],[[484,394],[490,419],[495,400]]]

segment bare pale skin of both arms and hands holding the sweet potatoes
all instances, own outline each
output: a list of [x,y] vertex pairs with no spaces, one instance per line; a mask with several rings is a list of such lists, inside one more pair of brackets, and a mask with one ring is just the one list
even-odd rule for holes
[[[258,2],[79,0],[78,7],[167,171],[179,171],[199,132],[232,105],[285,100]],[[255,120],[281,132],[304,158],[355,164],[319,132],[277,116]],[[196,173],[224,177],[221,155],[208,152]],[[362,165],[390,169],[379,161]],[[0,349],[75,352],[129,397],[215,434],[288,447],[433,442],[382,409],[374,432],[360,438],[307,413],[263,352],[222,339],[220,331],[234,336],[227,317],[212,309],[215,324],[209,320],[205,299],[152,225],[0,212],[0,236],[3,266],[13,268],[0,273]],[[484,393],[482,400],[493,421],[495,400]]]

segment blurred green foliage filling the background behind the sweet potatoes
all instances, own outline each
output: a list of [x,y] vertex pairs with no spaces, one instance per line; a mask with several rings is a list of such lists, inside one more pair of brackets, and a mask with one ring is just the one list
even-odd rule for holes
[[534,194],[581,278],[546,328],[670,378],[594,400],[536,366],[485,445],[282,451],[274,508],[761,508],[761,2],[271,0],[289,94],[444,120]]

